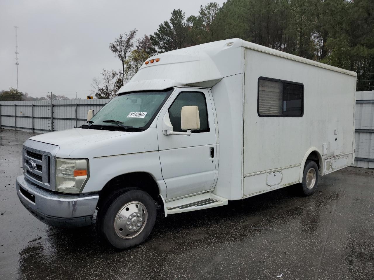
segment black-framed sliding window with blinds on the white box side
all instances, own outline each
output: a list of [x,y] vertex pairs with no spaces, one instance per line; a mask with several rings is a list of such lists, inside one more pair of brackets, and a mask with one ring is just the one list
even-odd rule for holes
[[303,116],[304,86],[300,83],[260,77],[259,116]]

